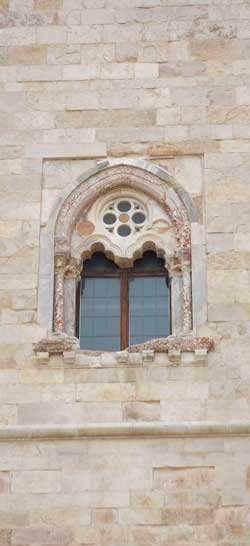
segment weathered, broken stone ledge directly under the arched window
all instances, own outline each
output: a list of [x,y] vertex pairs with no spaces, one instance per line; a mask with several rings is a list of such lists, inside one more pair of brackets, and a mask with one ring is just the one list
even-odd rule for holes
[[77,338],[55,333],[35,343],[34,353],[36,363],[41,365],[58,356],[65,366],[80,367],[139,366],[150,362],[165,366],[206,365],[207,354],[213,348],[211,338],[188,335],[152,339],[124,351],[83,351]]

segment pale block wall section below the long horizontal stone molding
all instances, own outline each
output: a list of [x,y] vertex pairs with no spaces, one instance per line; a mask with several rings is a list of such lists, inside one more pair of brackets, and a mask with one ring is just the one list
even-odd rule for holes
[[249,449],[249,438],[1,444],[1,544],[245,546]]

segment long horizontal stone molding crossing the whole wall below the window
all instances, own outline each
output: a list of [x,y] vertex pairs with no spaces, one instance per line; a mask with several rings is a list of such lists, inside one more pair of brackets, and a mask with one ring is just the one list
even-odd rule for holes
[[80,440],[96,438],[213,438],[249,437],[250,421],[245,422],[137,422],[89,423],[84,425],[1,426],[1,441]]

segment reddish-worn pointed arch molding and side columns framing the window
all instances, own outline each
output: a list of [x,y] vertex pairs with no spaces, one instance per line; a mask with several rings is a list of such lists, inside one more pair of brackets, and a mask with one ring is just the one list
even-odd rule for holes
[[[191,301],[191,269],[192,269],[192,226],[198,223],[196,206],[189,194],[164,169],[143,160],[111,160],[100,163],[95,170],[85,173],[77,180],[76,187],[63,196],[56,204],[43,237],[49,255],[52,259],[49,275],[47,275],[47,308],[46,318],[52,329],[52,315],[54,330],[74,335],[71,320],[65,315],[64,301],[71,301],[71,311],[74,307],[72,294],[79,278],[82,267],[82,258],[91,255],[98,240],[90,236],[80,245],[76,252],[72,248],[72,236],[79,215],[88,210],[95,201],[112,191],[124,188],[145,194],[162,207],[170,218],[171,225],[176,233],[176,248],[166,253],[166,266],[172,277],[173,294],[176,304],[173,306],[173,333],[190,333],[192,329],[192,301]],[[104,242],[99,240],[104,250],[115,254],[115,246],[105,248]],[[157,238],[144,236],[141,240],[141,250],[134,245],[133,259],[140,256],[144,248],[151,245],[157,252],[163,253]],[[133,244],[131,244],[133,247]],[[40,269],[41,273],[41,269]],[[53,277],[54,310],[53,306]],[[45,293],[43,278],[40,276],[40,286]],[[41,296],[41,294],[40,294]],[[178,300],[178,301],[177,301]],[[41,297],[40,297],[41,301]],[[41,306],[40,306],[41,308]],[[53,312],[52,312],[53,311]],[[72,313],[71,313],[72,314]],[[40,315],[41,316],[41,315]],[[42,322],[45,313],[42,312]]]

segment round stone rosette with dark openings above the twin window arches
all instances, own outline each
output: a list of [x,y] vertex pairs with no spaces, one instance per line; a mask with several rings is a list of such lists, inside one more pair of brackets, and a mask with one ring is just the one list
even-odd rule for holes
[[109,203],[102,214],[105,228],[119,237],[128,237],[141,231],[147,220],[147,211],[139,201],[118,198]]

